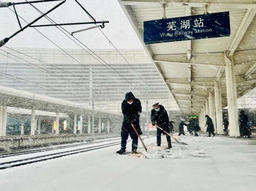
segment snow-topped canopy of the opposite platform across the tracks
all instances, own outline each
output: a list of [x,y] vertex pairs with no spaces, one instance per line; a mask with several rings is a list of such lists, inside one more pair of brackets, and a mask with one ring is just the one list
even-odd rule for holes
[[0,86],[0,103],[8,107],[10,115],[31,115],[32,108],[36,110],[36,115],[55,116],[55,112],[60,112],[62,117],[68,116],[64,114],[83,115],[91,112],[79,103],[4,86]]

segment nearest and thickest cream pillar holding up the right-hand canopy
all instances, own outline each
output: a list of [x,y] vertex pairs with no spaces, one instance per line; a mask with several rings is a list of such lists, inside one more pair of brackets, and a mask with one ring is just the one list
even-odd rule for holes
[[225,73],[227,85],[227,98],[229,110],[229,131],[230,137],[240,137],[240,130],[238,124],[238,107],[236,95],[236,76],[233,71],[233,62],[231,62],[225,55]]

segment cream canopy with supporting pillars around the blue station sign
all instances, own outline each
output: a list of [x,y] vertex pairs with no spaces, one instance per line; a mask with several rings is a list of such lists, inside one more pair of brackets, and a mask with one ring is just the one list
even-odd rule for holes
[[[202,127],[209,115],[223,134],[228,106],[230,136],[240,136],[237,98],[256,84],[256,0],[118,1],[182,113],[199,115]],[[219,12],[229,12],[229,37],[144,44],[144,21]]]

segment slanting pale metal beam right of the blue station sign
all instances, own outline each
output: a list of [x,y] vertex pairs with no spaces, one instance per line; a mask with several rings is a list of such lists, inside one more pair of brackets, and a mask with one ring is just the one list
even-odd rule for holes
[[233,41],[229,47],[229,57],[233,56],[234,52],[236,51],[237,46],[241,42],[243,35],[245,34],[248,26],[250,25],[252,19],[254,18],[256,14],[256,9],[248,8],[243,20],[236,32],[235,37],[233,38]]

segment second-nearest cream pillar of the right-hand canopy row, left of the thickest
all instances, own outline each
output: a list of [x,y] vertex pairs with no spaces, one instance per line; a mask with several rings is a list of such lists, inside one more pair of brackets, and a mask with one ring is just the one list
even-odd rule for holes
[[223,134],[221,88],[216,81],[214,81],[214,95],[215,95],[217,134]]

